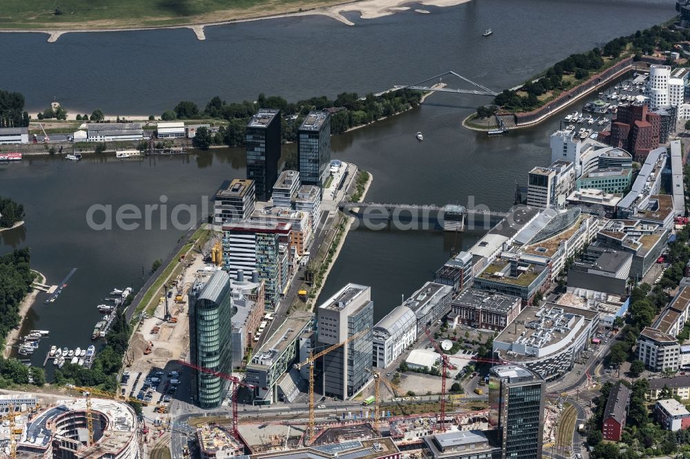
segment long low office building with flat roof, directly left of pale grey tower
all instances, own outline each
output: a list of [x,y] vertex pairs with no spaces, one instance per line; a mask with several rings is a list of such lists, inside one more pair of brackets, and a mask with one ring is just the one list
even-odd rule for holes
[[255,386],[255,403],[270,405],[278,401],[278,380],[297,363],[299,338],[311,330],[313,324],[313,313],[295,311],[266,339],[262,347],[256,349],[247,365],[247,383]]

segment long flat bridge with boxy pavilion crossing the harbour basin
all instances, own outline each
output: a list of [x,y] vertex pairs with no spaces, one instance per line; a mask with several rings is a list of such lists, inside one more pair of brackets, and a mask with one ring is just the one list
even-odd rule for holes
[[508,212],[483,209],[467,209],[463,205],[444,206],[427,204],[353,203],[338,205],[343,212],[355,216],[371,229],[386,227],[400,230],[490,230],[508,216]]

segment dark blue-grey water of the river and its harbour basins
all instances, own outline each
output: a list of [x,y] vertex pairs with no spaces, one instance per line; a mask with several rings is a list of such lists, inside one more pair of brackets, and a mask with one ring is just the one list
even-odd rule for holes
[[[14,63],[0,74],[0,88],[26,94],[31,110],[55,96],[81,112],[98,106],[122,114],[159,113],[179,99],[203,104],[216,94],[227,101],[259,92],[294,100],[377,91],[446,70],[500,90],[568,54],[674,14],[662,0],[473,0],[425,9],[431,14],[366,21],[351,14],[354,27],[324,17],[218,26],[206,29],[206,41],[189,30],[67,34],[57,43],[46,43],[42,34],[0,34],[0,59]],[[482,38],[489,27],[493,36]],[[533,165],[549,164],[549,134],[558,121],[492,139],[460,128],[486,101],[435,94],[417,110],[335,137],[333,156],[373,174],[371,201],[465,204],[476,196],[477,203],[505,210],[515,180],[524,184]],[[414,139],[417,131],[424,142]],[[290,148],[285,145],[284,155]],[[200,196],[225,179],[244,176],[244,166],[237,149],[124,162],[45,156],[0,165],[0,195],[23,203],[27,214],[25,227],[0,233],[2,251],[30,246],[33,267],[50,283],[79,269],[55,303],[37,303],[30,313],[29,327],[51,331],[34,363],[51,344],[88,345],[99,316],[95,305],[113,287],[141,285],[142,269],[165,258],[184,233],[94,231],[86,225],[91,205],[142,207],[159,203],[161,195],[169,208],[200,204]],[[322,296],[347,282],[371,285],[378,320],[431,278],[451,247],[467,248],[478,236],[356,230]]]

